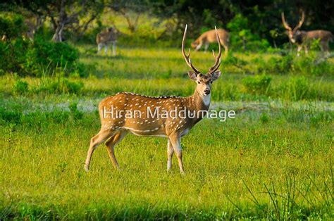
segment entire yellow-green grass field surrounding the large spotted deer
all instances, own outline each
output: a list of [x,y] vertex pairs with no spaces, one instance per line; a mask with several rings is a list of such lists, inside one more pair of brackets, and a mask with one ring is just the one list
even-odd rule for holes
[[[116,58],[79,49],[91,73],[69,78],[84,85],[78,93],[39,90],[54,78],[25,77],[29,91],[15,94],[16,80],[0,78],[0,220],[333,219],[333,72],[300,74],[305,96],[283,87],[299,73],[268,72],[270,89],[256,93],[242,79],[261,55],[236,53],[248,63],[222,65],[211,104],[236,118],[204,119],[183,138],[185,176],[175,158],[166,172],[166,139],[134,135],[116,146],[120,171],[101,145],[85,172],[102,97],[189,96],[194,83],[177,49],[122,48]],[[213,63],[210,53],[193,56],[200,70]]]

